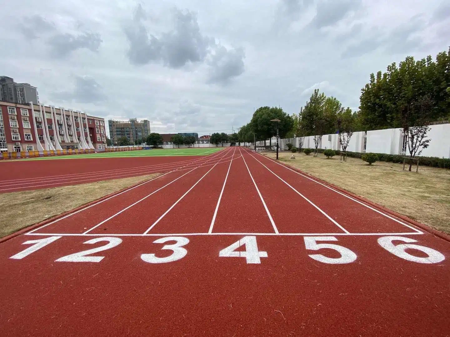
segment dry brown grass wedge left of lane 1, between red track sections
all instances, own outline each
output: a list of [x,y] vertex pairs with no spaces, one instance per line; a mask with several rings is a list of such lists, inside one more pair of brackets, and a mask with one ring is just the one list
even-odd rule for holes
[[0,237],[159,174],[0,194]]

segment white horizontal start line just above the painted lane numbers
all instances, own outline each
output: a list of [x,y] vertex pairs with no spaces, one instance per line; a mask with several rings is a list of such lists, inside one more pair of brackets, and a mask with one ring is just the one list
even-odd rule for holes
[[268,236],[386,236],[386,235],[420,235],[421,233],[151,233],[151,234],[67,234],[67,233],[25,233],[40,236],[189,236],[189,235],[268,235]]

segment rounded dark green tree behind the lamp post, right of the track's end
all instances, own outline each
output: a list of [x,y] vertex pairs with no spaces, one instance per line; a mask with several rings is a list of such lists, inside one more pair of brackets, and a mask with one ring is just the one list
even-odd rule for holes
[[285,135],[293,128],[293,119],[290,115],[283,111],[283,109],[278,107],[261,106],[258,108],[252,116],[250,121],[251,129],[256,133],[258,139],[270,139],[270,145],[272,142],[272,137],[277,133],[277,125],[270,120],[280,120],[279,125],[279,136],[284,138]]

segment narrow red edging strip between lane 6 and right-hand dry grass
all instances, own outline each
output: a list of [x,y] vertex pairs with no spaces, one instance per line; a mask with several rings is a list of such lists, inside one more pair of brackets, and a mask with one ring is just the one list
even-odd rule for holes
[[[252,151],[252,150],[250,150],[250,151]],[[258,153],[256,151],[252,151],[252,152],[255,152],[256,154],[261,155],[260,153]],[[427,226],[427,225],[425,225],[425,224],[423,224],[421,222],[415,221],[415,220],[413,220],[413,219],[411,219],[411,218],[409,218],[409,217],[407,217],[407,216],[405,216],[403,214],[400,214],[400,213],[397,213],[395,211],[392,211],[391,209],[386,208],[386,207],[384,207],[384,206],[382,206],[380,204],[374,203],[373,201],[370,201],[369,199],[366,199],[366,198],[364,198],[364,197],[362,197],[360,195],[356,195],[356,194],[354,194],[354,193],[352,193],[350,191],[347,191],[347,190],[343,189],[342,187],[339,187],[339,186],[336,186],[336,185],[331,184],[329,182],[326,182],[326,181],[324,181],[324,180],[322,180],[322,179],[320,179],[318,177],[315,177],[315,176],[313,176],[313,175],[311,175],[309,173],[305,173],[305,172],[299,170],[298,168],[295,168],[295,167],[290,166],[288,164],[285,164],[283,162],[276,161],[276,160],[268,157],[267,155],[261,155],[261,156],[266,157],[267,159],[270,159],[273,162],[275,162],[275,163],[277,163],[279,165],[282,165],[282,166],[284,166],[284,167],[286,167],[288,169],[291,169],[291,170],[293,170],[293,171],[295,171],[297,173],[300,173],[300,174],[304,175],[305,177],[308,177],[308,178],[310,178],[312,180],[315,180],[316,182],[319,182],[319,183],[321,183],[321,184],[323,184],[323,185],[325,185],[325,186],[327,186],[327,187],[329,187],[331,189],[334,189],[334,190],[336,190],[338,192],[344,193],[344,194],[350,196],[351,198],[354,198],[354,199],[356,199],[356,200],[358,200],[360,202],[363,202],[363,203],[368,204],[368,205],[370,205],[370,206],[372,206],[374,208],[377,208],[378,210],[383,211],[384,213],[387,213],[389,215],[397,217],[397,218],[399,218],[399,219],[401,219],[401,220],[403,220],[405,222],[409,222],[411,225],[417,226],[420,229],[422,229],[424,231],[427,231],[428,233],[430,233],[432,235],[436,235],[437,237],[450,242],[450,235],[448,235],[448,234],[446,234],[444,232],[438,231],[438,230],[436,230],[434,228],[431,228],[430,226]]]

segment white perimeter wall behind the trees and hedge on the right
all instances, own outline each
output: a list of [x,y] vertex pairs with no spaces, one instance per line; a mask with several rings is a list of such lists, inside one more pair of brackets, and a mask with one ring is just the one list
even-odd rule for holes
[[[450,124],[430,125],[431,130],[427,137],[431,139],[428,148],[423,149],[420,155],[428,157],[450,158]],[[347,151],[374,152],[389,155],[401,155],[405,153],[402,129],[384,129],[355,132],[350,138]],[[304,137],[302,148],[315,148],[314,136]],[[299,137],[279,140],[281,149],[287,150],[286,144],[291,143],[298,147]],[[266,142],[269,145],[269,141]],[[272,145],[276,144],[276,138],[272,138]],[[263,146],[264,142],[257,142],[257,146]],[[332,149],[340,151],[338,134],[325,134],[319,144],[320,149]],[[407,151],[407,150],[406,150]]]

